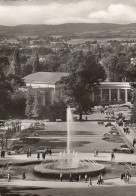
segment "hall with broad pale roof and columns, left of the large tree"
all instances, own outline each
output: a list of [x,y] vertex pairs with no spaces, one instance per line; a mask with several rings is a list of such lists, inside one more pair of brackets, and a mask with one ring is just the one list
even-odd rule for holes
[[46,103],[53,104],[62,99],[62,88],[57,84],[62,76],[67,76],[62,72],[36,72],[24,77],[26,87],[38,91],[40,105]]

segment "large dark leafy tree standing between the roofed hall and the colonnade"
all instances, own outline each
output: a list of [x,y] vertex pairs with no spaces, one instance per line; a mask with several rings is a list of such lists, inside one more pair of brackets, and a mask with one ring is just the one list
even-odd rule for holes
[[92,91],[99,86],[99,82],[106,79],[106,74],[91,52],[82,51],[74,54],[69,71],[69,75],[60,81],[64,88],[65,102],[77,108],[79,119],[82,120],[83,112],[90,111],[93,106]]

